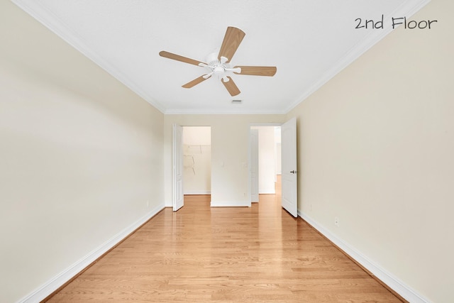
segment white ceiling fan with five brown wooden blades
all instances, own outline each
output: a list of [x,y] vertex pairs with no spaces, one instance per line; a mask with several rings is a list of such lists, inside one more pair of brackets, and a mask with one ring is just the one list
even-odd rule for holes
[[222,84],[226,87],[231,96],[236,96],[240,94],[240,89],[236,86],[235,82],[231,78],[231,75],[253,75],[253,76],[269,76],[272,77],[276,73],[276,67],[274,66],[234,66],[231,65],[231,60],[235,54],[238,46],[240,46],[241,41],[243,40],[245,33],[239,28],[229,26],[224,36],[224,40],[221,45],[221,50],[219,52],[214,52],[209,54],[206,57],[206,62],[201,62],[198,60],[193,60],[188,57],[183,57],[173,53],[166,52],[162,50],[159,55],[161,57],[166,57],[172,60],[177,60],[192,65],[197,65],[199,67],[204,67],[207,70],[205,75],[187,82],[187,84],[182,85],[184,88],[194,87],[196,84],[199,84],[206,79],[214,76],[217,79],[221,80]]

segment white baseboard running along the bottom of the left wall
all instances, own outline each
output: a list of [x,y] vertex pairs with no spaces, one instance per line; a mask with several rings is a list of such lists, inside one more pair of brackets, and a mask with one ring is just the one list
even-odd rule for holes
[[86,255],[84,258],[80,259],[79,261],[77,261],[76,263],[71,265],[66,270],[60,272],[59,275],[53,277],[51,280],[46,282],[44,285],[39,287],[37,290],[33,291],[31,294],[28,294],[28,296],[20,299],[18,302],[35,303],[35,302],[40,302],[41,300],[45,299],[46,297],[48,297],[48,295],[52,294],[52,292],[55,292],[55,290],[57,290],[58,287],[61,287],[67,281],[71,280],[72,277],[74,277],[79,272],[84,270],[84,268],[87,268],[87,266],[92,264],[97,258],[101,257],[101,255],[104,255],[104,253],[106,253],[111,248],[116,246],[116,244],[121,242],[130,233],[135,231],[135,229],[137,229],[139,226],[144,224],[151,217],[155,216],[155,214],[160,212],[162,209],[164,209],[163,204],[155,207],[155,209],[152,209],[150,212],[145,214],[145,216],[138,219],[138,221],[135,221],[133,224],[131,224],[130,226],[123,229],[123,231],[117,233],[109,241],[106,241],[104,244],[102,244],[101,246],[99,246],[98,248],[93,250],[91,253]]

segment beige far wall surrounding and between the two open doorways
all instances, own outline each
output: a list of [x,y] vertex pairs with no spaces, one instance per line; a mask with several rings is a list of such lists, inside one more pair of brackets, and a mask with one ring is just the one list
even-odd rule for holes
[[282,123],[284,115],[165,115],[164,120],[166,206],[172,206],[173,123],[180,126],[211,126],[211,205],[250,205],[250,124]]

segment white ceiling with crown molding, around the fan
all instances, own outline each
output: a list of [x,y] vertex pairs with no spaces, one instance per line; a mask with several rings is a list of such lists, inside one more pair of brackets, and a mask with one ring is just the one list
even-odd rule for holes
[[[392,17],[428,0],[13,2],[165,114],[285,114],[392,31]],[[382,14],[383,29],[355,28]],[[234,75],[236,97],[214,77],[182,88],[206,70],[158,53],[204,61],[228,26],[246,33],[233,65],[276,66],[276,75]]]

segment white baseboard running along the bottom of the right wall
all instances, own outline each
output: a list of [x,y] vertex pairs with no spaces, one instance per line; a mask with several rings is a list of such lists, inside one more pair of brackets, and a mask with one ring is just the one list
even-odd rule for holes
[[394,292],[400,294],[407,301],[411,303],[431,302],[425,297],[421,296],[421,294],[418,294],[415,290],[411,289],[411,287],[409,287],[408,285],[405,285],[405,283],[397,279],[397,277],[394,277],[394,275],[387,272],[387,270],[384,270],[379,265],[373,263],[372,260],[360,253],[358,250],[355,250],[355,248],[350,246],[348,243],[345,243],[340,238],[336,237],[333,233],[328,231],[328,229],[324,228],[323,226],[321,226],[321,224],[311,219],[311,217],[307,214],[298,211],[298,216],[304,219],[304,221],[306,221],[307,223],[311,224],[311,226],[316,228],[316,230],[323,234],[323,236],[326,236],[326,238],[336,244],[336,246],[341,248],[341,250],[350,255],[350,258],[353,258],[353,260],[364,266],[364,268],[369,270],[372,275],[375,275],[375,277],[380,279],[382,282],[384,282],[384,284],[388,285],[389,288],[394,290]]

